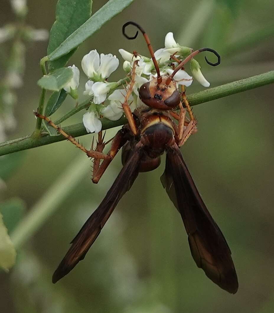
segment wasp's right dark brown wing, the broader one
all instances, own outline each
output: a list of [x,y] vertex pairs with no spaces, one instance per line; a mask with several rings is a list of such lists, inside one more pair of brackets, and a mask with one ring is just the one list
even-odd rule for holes
[[238,279],[231,251],[207,210],[176,144],[167,149],[163,187],[182,216],[192,257],[215,284],[235,294]]

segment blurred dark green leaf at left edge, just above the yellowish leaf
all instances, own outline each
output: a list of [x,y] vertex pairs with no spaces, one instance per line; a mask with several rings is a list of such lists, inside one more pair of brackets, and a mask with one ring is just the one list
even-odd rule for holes
[[17,226],[26,210],[24,202],[20,198],[11,198],[0,204],[0,213],[3,215],[3,222],[11,233]]

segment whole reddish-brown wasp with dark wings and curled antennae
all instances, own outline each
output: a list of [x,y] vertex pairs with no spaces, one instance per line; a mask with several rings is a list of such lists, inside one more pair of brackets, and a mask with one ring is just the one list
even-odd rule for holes
[[[138,173],[156,169],[160,165],[161,155],[165,152],[166,166],[161,176],[161,182],[182,217],[193,259],[210,280],[222,289],[234,294],[238,289],[238,280],[230,248],[220,228],[207,210],[179,149],[196,131],[197,121],[193,117],[184,92],[179,92],[176,82],[173,80],[173,76],[178,70],[182,69],[184,64],[196,54],[202,51],[213,52],[218,57],[218,62],[210,63],[205,58],[206,62],[213,66],[220,64],[220,56],[213,49],[196,50],[181,61],[171,75],[162,77],[151,43],[143,28],[130,21],[123,25],[123,34],[128,39],[137,37],[138,31],[133,37],[126,34],[125,28],[130,24],[142,32],[157,72],[157,78],[140,87],[139,97],[145,106],[137,108],[132,114],[127,100],[133,89],[135,69],[138,66],[138,61],[134,61],[131,82],[127,86],[127,94],[122,104],[128,123],[112,139],[111,148],[107,154],[102,152],[106,143],[103,142],[101,133],[99,133],[96,149],[93,150],[92,144],[91,150],[86,150],[47,117],[36,114],[48,121],[51,126],[55,127],[89,157],[94,158],[92,177],[94,183],[99,181],[111,160],[122,148],[123,168],[121,172],[101,204],[71,241],[70,249],[55,270],[52,281],[56,283],[67,275],[79,261],[84,259],[85,254],[100,234],[119,200],[132,187]],[[186,109],[182,102],[184,102]],[[175,112],[175,109],[179,109],[179,114]],[[186,111],[189,112],[190,118],[187,118]],[[177,122],[175,123],[174,120]],[[101,159],[103,160],[100,164]]]

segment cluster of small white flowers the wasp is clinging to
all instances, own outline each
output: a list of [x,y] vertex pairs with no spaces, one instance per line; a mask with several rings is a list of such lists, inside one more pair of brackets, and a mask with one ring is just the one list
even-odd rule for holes
[[[173,33],[169,32],[165,37],[165,47],[155,51],[155,58],[160,65],[161,76],[172,74],[174,66],[178,65],[178,60],[183,60],[193,50],[189,47],[180,46],[173,38]],[[139,98],[139,88],[146,82],[156,77],[155,67],[152,59],[137,53],[132,54],[124,49],[119,49],[121,57],[124,59],[123,69],[129,74],[132,71],[134,61],[137,62],[135,69],[135,81],[133,85],[133,93],[128,98],[128,105],[133,112],[137,107],[144,106]],[[171,57],[175,56],[175,61]],[[116,121],[123,115],[122,103],[125,100],[127,87],[124,89],[116,89],[119,82],[109,82],[107,79],[118,68],[119,59],[116,55],[99,53],[91,50],[86,54],[81,62],[82,69],[88,77],[85,83],[84,95],[93,96],[93,104],[90,105],[88,112],[83,116],[83,123],[87,132],[99,132],[102,123],[99,120],[103,115],[111,121]],[[73,77],[64,87],[65,91],[73,98],[78,98],[77,88],[79,86],[80,71],[73,65],[70,66],[73,71]],[[204,87],[209,87],[209,82],[204,78],[200,65],[195,59],[190,60],[190,69],[194,78]],[[190,86],[193,77],[184,69],[180,69],[173,77],[177,88],[179,85]]]

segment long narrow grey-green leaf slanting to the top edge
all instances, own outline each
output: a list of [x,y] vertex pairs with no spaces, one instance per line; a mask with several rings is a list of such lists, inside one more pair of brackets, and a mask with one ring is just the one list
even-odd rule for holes
[[[48,54],[53,61],[69,53],[100,29],[107,21],[129,6],[134,0],[109,0],[102,8],[92,15],[83,25],[75,30],[52,53]],[[122,27],[122,25],[121,25]]]

